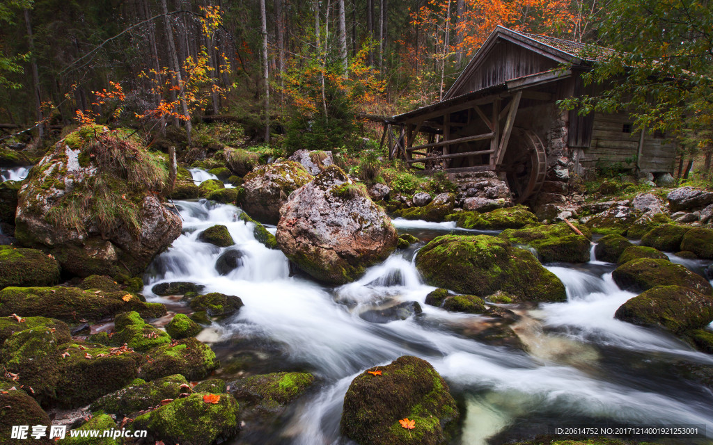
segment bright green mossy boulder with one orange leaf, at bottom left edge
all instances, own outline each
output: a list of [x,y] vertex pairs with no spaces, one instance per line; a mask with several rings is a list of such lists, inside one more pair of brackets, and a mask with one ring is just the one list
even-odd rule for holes
[[206,393],[174,399],[151,412],[141,414],[129,426],[146,429],[151,443],[211,445],[232,439],[240,431],[240,410],[230,394],[213,394],[217,403],[206,403]]

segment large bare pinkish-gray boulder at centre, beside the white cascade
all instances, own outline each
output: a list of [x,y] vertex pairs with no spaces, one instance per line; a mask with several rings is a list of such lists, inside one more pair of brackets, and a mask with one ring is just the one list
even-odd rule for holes
[[398,235],[386,213],[336,165],[297,189],[280,209],[277,244],[303,271],[344,284],[384,261]]

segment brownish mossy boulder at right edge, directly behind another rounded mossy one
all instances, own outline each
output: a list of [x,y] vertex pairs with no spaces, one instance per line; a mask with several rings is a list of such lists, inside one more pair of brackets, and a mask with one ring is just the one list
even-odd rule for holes
[[637,293],[656,286],[684,286],[706,295],[713,291],[705,278],[668,260],[641,258],[629,261],[617,267],[612,278],[620,288]]

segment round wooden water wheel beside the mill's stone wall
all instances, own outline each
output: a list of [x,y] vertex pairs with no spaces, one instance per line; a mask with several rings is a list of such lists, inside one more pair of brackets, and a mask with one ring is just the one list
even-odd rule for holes
[[503,164],[498,170],[506,173],[516,203],[538,194],[547,174],[547,155],[540,137],[530,130],[513,128]]

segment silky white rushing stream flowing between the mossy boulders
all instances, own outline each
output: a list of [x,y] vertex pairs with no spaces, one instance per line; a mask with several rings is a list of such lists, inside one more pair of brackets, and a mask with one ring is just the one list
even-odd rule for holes
[[[248,425],[234,444],[348,443],[339,436],[339,417],[349,383],[364,369],[401,355],[428,360],[450,385],[461,407],[455,444],[504,444],[552,434],[555,426],[602,423],[695,424],[708,426],[713,436],[713,393],[677,374],[684,363],[713,365],[713,357],[666,333],[615,320],[615,310],[634,294],[612,281],[613,264],[547,265],[565,283],[568,301],[513,308],[520,315],[513,329],[528,350],[523,352],[478,340],[478,326],[488,321],[483,315],[424,304],[434,288],[422,283],[413,263],[423,244],[396,251],[354,283],[329,288],[290,276],[287,258],[254,239],[252,224],[237,220],[237,207],[205,200],[175,204],[183,235],[153,263],[145,295],[183,312],[188,311],[183,303],[150,289],[164,281],[190,281],[205,286],[204,292],[242,298],[240,313],[199,336],[212,342],[221,359],[217,377],[230,381],[285,370],[317,377],[278,427]],[[198,241],[200,231],[215,224],[227,226],[235,246]],[[483,233],[456,230],[451,223],[397,219],[394,224],[423,241],[451,231]],[[242,252],[242,266],[220,276],[215,262],[227,249]],[[424,313],[390,323],[360,317],[402,301],[421,303]]]

